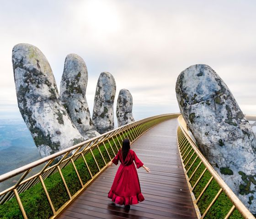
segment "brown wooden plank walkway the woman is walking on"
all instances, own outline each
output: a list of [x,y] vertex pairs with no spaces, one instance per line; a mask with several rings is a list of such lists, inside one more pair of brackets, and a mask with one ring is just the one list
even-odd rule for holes
[[143,167],[137,169],[143,202],[125,209],[113,205],[107,198],[119,163],[104,171],[59,218],[196,219],[177,148],[177,125],[177,119],[167,120],[147,131],[131,146],[150,169],[150,173]]

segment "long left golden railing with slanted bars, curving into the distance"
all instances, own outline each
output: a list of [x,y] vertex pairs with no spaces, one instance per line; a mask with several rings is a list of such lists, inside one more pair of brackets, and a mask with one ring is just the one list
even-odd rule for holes
[[[8,203],[8,201],[10,202],[14,200],[13,198],[15,197],[23,218],[27,219],[27,211],[29,209],[27,209],[27,211],[25,210],[21,200],[21,195],[22,193],[27,192],[27,190],[29,191],[29,189],[32,189],[38,183],[41,183],[42,190],[47,197],[50,209],[52,211],[50,217],[55,218],[67,206],[69,206],[69,204],[72,203],[72,201],[83,190],[85,190],[85,188],[87,188],[96,179],[96,177],[101,174],[101,172],[107,168],[108,162],[112,160],[117,151],[121,148],[124,138],[129,138],[131,143],[133,143],[133,141],[135,141],[145,131],[149,130],[155,125],[158,125],[160,122],[177,116],[178,114],[164,114],[135,121],[128,125],[124,125],[115,130],[109,131],[101,136],[97,136],[90,140],[84,141],[63,151],[59,151],[53,155],[44,157],[26,166],[17,168],[11,172],[7,172],[0,176],[0,183],[5,182],[13,177],[18,177],[20,174],[22,174],[22,176],[17,179],[14,186],[11,186],[10,188],[5,189],[5,191],[0,192],[0,204]],[[105,153],[105,156],[103,156],[103,153]],[[94,160],[97,171],[93,171],[92,167],[90,167],[88,159],[86,160],[87,155],[88,157],[89,155],[93,157],[91,160]],[[101,164],[99,160],[101,160]],[[78,161],[82,161],[84,163],[85,169],[90,173],[91,178],[87,182],[85,182],[85,179],[81,177],[81,173],[76,165]],[[43,167],[41,167],[41,165],[43,165]],[[73,195],[71,194],[70,188],[66,183],[67,178],[63,173],[65,167],[70,166],[74,168],[75,175],[80,183],[80,189]],[[34,170],[35,168],[39,167],[41,168],[37,170],[36,173],[33,173],[32,176],[29,176],[29,173],[32,171],[32,169]],[[66,201],[59,208],[54,206],[51,193],[48,192],[47,185],[45,184],[45,180],[56,173],[59,173],[68,195],[68,201]]]

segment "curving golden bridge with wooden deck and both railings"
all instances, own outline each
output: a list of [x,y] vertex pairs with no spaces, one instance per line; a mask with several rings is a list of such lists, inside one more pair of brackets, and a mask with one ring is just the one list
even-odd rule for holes
[[[107,198],[117,167],[107,164],[124,138],[139,169],[144,202],[130,209]],[[254,216],[208,163],[180,114],[149,117],[0,176],[0,218],[196,219]]]

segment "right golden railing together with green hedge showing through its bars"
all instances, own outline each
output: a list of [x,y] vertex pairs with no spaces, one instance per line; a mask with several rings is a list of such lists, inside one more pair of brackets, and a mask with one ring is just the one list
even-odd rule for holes
[[[177,142],[197,217],[255,219],[200,152],[182,115],[178,117],[178,122]],[[218,208],[219,215],[215,215],[214,208]]]

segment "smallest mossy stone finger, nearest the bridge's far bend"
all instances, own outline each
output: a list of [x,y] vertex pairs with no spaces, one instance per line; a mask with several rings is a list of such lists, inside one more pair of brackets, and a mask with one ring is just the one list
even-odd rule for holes
[[118,126],[134,122],[133,97],[127,89],[121,89],[117,98],[117,123]]

